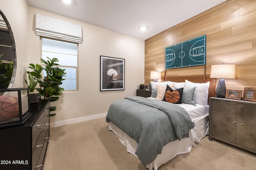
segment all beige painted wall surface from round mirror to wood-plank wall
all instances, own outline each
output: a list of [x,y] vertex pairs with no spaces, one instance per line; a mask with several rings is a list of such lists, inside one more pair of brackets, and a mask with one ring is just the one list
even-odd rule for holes
[[[28,64],[40,63],[40,37],[35,35],[35,14],[82,26],[83,42],[79,44],[78,54],[79,90],[64,92],[58,101],[51,103],[57,107],[57,115],[51,117],[51,122],[106,113],[112,102],[136,95],[139,84],[144,82],[144,40],[28,7],[26,0],[18,2],[20,4],[16,0],[0,0],[0,8],[10,21],[17,47],[16,88],[25,86],[24,73]],[[125,59],[125,90],[100,92],[100,55]]]

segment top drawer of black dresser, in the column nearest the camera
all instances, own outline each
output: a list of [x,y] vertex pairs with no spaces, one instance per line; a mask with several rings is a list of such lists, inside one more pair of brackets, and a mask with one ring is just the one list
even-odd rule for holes
[[44,128],[44,114],[41,114],[36,123],[32,127],[32,150],[36,145],[36,141]]

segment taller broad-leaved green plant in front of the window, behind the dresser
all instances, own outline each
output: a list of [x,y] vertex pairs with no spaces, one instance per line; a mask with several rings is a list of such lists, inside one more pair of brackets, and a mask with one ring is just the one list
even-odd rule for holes
[[[66,75],[65,69],[61,69],[59,67],[56,67],[59,65],[56,62],[59,62],[58,59],[49,57],[46,57],[47,61],[44,59],[40,59],[42,63],[46,64],[43,69],[46,71],[46,76],[44,76],[43,80],[38,80],[38,83],[40,85],[40,88],[36,88],[39,92],[40,98],[43,99],[49,99],[50,102],[57,101],[59,99],[58,96],[62,94],[61,91],[64,90],[64,88],[61,88],[60,85],[62,84],[62,81],[65,80],[62,78]],[[51,106],[50,111],[55,111],[56,107]],[[50,114],[50,116],[55,116],[56,113]]]

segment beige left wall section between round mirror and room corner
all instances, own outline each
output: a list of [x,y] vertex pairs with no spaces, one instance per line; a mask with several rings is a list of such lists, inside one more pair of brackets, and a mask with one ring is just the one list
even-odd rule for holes
[[17,69],[13,88],[24,87],[24,71],[28,63],[28,4],[26,0],[0,0],[0,10],[10,23],[16,45]]

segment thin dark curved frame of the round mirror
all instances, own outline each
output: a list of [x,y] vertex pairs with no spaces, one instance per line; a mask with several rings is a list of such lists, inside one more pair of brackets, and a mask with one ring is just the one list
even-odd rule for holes
[[13,36],[13,33],[12,33],[12,29],[10,27],[10,24],[9,24],[8,20],[6,19],[4,13],[1,10],[0,10],[0,15],[2,16],[2,18],[4,19],[4,21],[6,23],[6,26],[8,28],[8,31],[10,33],[11,40],[12,40],[13,71],[12,71],[12,78],[11,78],[10,84],[8,85],[8,89],[9,89],[9,88],[12,88],[12,85],[14,83],[15,74],[16,74],[16,65],[17,65],[17,61],[16,61],[16,47],[15,47],[14,36]]

